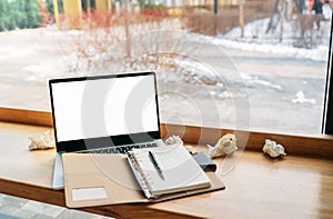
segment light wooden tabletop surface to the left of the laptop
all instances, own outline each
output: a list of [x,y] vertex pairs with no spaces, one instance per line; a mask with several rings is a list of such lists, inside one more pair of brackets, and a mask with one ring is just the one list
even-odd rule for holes
[[29,151],[29,136],[48,127],[0,122],[0,177],[50,188],[56,150]]

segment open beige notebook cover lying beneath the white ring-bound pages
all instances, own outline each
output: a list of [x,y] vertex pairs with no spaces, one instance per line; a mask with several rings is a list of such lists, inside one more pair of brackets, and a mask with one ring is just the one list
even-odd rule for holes
[[[173,192],[159,195],[154,198],[147,198],[142,190],[142,185],[138,183],[137,176],[131,168],[131,162],[129,162],[129,157],[127,155],[63,153],[62,162],[65,205],[70,208],[134,202],[159,202],[225,188],[220,177],[215,172],[210,171],[205,172],[206,177],[210,179],[209,187],[205,185],[195,185],[194,187],[188,187],[185,190],[178,192],[168,188],[164,192]],[[180,168],[180,170],[182,168]],[[151,169],[151,171],[153,171],[153,169]],[[169,178],[169,173],[167,173],[167,171],[163,173],[164,179],[169,182],[169,179],[167,179]],[[182,176],[180,176],[181,171],[175,175],[182,179]],[[149,180],[152,180],[152,178],[153,177],[151,176]],[[204,179],[204,181],[206,179]]]

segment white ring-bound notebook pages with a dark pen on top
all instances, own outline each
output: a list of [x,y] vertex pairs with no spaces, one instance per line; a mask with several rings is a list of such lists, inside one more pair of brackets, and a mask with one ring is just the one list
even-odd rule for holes
[[182,146],[134,149],[128,153],[147,198],[211,186],[211,180]]

